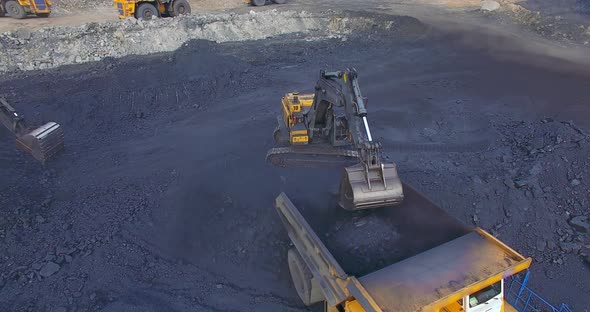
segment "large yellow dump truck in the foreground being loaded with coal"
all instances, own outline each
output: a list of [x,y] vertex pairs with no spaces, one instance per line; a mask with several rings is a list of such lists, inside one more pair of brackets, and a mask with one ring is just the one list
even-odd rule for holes
[[323,301],[330,312],[516,311],[504,298],[504,281],[527,270],[531,258],[403,187],[403,203],[391,209],[361,217],[317,209],[311,223],[286,194],[276,198],[303,303]]

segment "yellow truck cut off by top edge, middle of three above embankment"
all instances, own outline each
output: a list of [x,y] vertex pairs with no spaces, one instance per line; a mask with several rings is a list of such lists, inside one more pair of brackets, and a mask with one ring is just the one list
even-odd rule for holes
[[187,0],[114,0],[113,2],[120,19],[135,17],[150,20],[191,13]]

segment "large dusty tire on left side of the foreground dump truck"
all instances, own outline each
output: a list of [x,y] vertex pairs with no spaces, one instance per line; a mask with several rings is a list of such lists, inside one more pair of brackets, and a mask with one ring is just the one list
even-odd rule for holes
[[289,249],[287,253],[287,260],[289,262],[289,271],[291,272],[291,279],[293,286],[297,290],[297,294],[303,304],[311,306],[322,301],[323,295],[318,287],[314,287],[313,275],[307,268],[303,258],[295,248]]

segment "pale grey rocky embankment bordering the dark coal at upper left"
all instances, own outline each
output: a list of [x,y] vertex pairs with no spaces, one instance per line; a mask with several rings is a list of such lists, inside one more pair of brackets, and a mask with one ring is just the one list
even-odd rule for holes
[[34,31],[19,29],[0,35],[0,72],[174,51],[195,39],[229,42],[285,34],[303,34],[310,39],[345,36],[374,27],[387,29],[391,25],[391,22],[379,22],[375,18],[349,18],[334,12],[265,10],[152,21],[127,19]]

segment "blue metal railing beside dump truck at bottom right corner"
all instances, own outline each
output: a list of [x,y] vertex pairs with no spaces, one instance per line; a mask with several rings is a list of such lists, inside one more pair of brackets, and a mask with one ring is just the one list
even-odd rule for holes
[[564,303],[556,307],[543,299],[537,293],[527,287],[531,272],[526,270],[524,277],[517,275],[510,277],[505,291],[506,300],[519,312],[572,312]]

